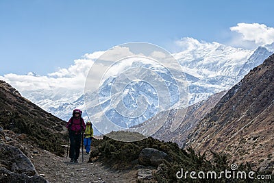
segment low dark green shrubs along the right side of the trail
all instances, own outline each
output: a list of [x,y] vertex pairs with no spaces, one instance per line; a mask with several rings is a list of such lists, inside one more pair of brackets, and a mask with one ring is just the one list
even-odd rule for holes
[[[111,132],[112,135],[123,136],[123,133],[129,132]],[[132,134],[133,136],[136,134]],[[153,177],[158,182],[197,182],[197,180],[190,179],[188,174],[187,178],[178,179],[176,173],[184,169],[184,171],[215,171],[220,173],[221,171],[231,171],[230,164],[227,162],[227,156],[225,154],[216,154],[212,152],[214,159],[212,161],[206,160],[205,154],[196,154],[191,148],[180,149],[176,143],[159,141],[155,138],[145,138],[142,141],[136,142],[121,142],[115,141],[108,136],[103,136],[103,139],[94,139],[92,141],[92,151],[90,153],[89,162],[96,160],[104,162],[114,169],[129,169],[138,164],[138,157],[142,149],[154,148],[160,151],[164,151],[169,156],[169,160],[164,161],[159,167],[155,168]],[[251,171],[250,164],[240,164],[237,171]],[[156,170],[157,169],[157,170]],[[258,171],[254,171],[256,175]],[[262,172],[260,172],[262,174]],[[271,174],[266,173],[264,174]],[[197,175],[196,175],[197,176]],[[228,180],[221,179],[205,179],[203,182],[227,182]],[[229,180],[229,182],[253,182],[253,180]],[[266,180],[267,182],[268,180]],[[255,182],[255,181],[254,181]]]

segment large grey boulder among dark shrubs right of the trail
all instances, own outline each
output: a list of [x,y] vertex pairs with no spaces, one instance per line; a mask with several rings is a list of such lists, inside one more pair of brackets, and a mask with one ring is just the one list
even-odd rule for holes
[[159,164],[164,162],[164,160],[168,160],[169,157],[163,151],[159,151],[158,149],[153,148],[145,148],[139,154],[139,164],[144,166],[153,166],[158,167]]

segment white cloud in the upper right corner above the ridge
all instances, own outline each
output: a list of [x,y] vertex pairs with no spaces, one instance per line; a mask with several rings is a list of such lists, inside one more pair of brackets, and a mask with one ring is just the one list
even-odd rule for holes
[[274,42],[274,28],[259,23],[238,23],[230,27],[235,32],[230,45],[255,48]]

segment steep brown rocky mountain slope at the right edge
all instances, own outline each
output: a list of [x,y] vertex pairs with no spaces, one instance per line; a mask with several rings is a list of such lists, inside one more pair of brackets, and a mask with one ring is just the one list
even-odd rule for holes
[[274,55],[252,69],[212,108],[186,146],[228,154],[252,167],[274,166]]

